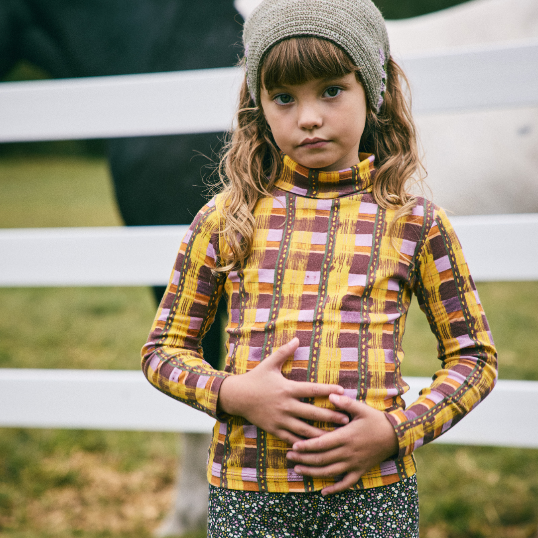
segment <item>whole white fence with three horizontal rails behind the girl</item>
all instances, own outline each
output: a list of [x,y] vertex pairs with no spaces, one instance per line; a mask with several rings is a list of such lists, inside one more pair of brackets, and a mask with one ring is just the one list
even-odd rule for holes
[[[538,104],[538,44],[401,62],[418,111]],[[232,123],[239,77],[228,68],[3,83],[0,141],[224,130]],[[538,215],[452,222],[477,281],[538,280]],[[0,286],[165,284],[184,231],[183,226],[0,230]],[[407,381],[408,402],[430,383]],[[501,380],[440,442],[538,448],[537,415],[538,382]],[[212,423],[154,390],[141,372],[0,369],[0,426],[199,433],[210,431]]]

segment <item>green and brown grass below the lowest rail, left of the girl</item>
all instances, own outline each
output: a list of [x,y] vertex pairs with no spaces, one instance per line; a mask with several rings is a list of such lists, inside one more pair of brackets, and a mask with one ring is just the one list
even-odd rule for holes
[[0,430],[5,536],[150,536],[173,501],[176,436]]

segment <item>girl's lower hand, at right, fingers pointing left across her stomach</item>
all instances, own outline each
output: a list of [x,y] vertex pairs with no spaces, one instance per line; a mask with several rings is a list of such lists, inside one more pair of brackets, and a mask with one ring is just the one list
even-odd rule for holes
[[298,441],[287,454],[299,463],[298,475],[319,478],[345,475],[323,495],[337,493],[356,484],[373,466],[398,453],[398,436],[385,413],[346,396],[331,394],[329,400],[352,417],[347,426],[320,437]]

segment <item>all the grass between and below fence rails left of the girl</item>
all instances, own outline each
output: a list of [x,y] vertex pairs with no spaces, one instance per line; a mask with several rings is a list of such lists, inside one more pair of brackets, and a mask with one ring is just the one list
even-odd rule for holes
[[[118,225],[102,159],[0,159],[0,228]],[[0,367],[133,369],[148,288],[0,288]],[[145,538],[173,501],[169,433],[0,429],[0,534]]]

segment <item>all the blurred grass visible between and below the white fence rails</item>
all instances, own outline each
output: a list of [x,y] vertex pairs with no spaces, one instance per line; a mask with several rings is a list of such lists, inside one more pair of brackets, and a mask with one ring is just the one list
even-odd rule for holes
[[[0,192],[0,228],[121,223],[102,160],[3,158]],[[500,377],[538,379],[538,283],[478,290]],[[0,289],[0,367],[137,369],[154,308],[147,288]],[[404,345],[404,374],[430,376],[435,339],[416,301]],[[173,502],[176,445],[164,433],[0,429],[0,534],[151,536]],[[421,536],[536,536],[538,450],[430,444],[415,456]]]

